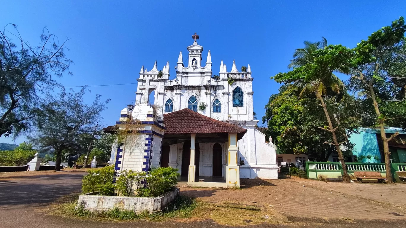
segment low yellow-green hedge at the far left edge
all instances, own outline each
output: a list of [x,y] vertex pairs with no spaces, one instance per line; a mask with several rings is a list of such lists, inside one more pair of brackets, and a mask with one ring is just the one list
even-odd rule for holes
[[25,166],[36,151],[0,151],[0,166]]

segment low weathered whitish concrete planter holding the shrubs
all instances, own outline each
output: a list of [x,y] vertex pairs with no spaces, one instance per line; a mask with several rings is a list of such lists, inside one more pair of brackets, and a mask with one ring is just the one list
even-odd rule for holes
[[93,196],[83,194],[79,196],[78,206],[83,205],[89,211],[106,211],[115,207],[123,210],[131,210],[136,213],[145,210],[150,213],[164,209],[179,196],[179,188],[173,188],[162,196],[155,198],[135,196]]

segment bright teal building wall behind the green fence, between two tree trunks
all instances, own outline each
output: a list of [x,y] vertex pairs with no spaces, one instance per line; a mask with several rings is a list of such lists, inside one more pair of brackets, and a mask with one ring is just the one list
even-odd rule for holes
[[[378,141],[376,140],[376,133],[369,133],[362,131],[360,129],[359,134],[350,135],[350,142],[354,143],[354,149],[352,154],[359,157],[359,155],[367,156],[371,155],[372,159],[369,161],[371,163],[379,163],[382,161],[380,156]],[[374,156],[378,156],[381,160],[377,161]],[[362,161],[358,162],[368,162],[368,159],[364,158]]]

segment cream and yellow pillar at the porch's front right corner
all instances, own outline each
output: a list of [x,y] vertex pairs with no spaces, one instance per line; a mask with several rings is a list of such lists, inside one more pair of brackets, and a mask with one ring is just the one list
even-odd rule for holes
[[237,134],[229,133],[228,161],[225,169],[227,187],[240,187],[240,167],[238,166]]

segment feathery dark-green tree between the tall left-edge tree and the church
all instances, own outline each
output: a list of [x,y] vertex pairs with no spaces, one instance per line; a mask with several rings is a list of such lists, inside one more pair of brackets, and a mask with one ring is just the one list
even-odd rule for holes
[[78,148],[82,134],[93,134],[100,113],[106,109],[106,103],[100,102],[100,95],[96,95],[91,105],[83,101],[86,88],[80,92],[66,92],[63,89],[58,95],[47,95],[50,103],[41,104],[43,110],[35,118],[37,134],[30,137],[31,141],[41,149],[54,150],[56,155],[55,171],[60,170],[62,151]]

